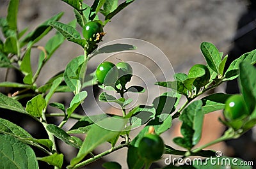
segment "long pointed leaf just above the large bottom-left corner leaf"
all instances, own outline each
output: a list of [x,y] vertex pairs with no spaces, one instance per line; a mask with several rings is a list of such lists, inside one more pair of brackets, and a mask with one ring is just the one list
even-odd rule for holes
[[14,136],[14,137],[18,138],[21,142],[38,147],[38,149],[41,149],[42,151],[45,151],[45,152],[47,152],[47,151],[44,149],[44,147],[42,147],[38,143],[48,147],[50,150],[52,148],[51,140],[35,139],[28,133],[28,131],[26,131],[23,128],[20,128],[20,126],[17,126],[16,124],[14,124],[10,121],[7,121],[6,119],[0,118],[0,133],[3,133],[5,135]]

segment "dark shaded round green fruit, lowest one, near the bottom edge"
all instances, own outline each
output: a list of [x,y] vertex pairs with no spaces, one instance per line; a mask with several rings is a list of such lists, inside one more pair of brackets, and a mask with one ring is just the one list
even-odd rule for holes
[[159,135],[148,133],[141,138],[138,153],[145,161],[156,161],[164,153],[164,142]]

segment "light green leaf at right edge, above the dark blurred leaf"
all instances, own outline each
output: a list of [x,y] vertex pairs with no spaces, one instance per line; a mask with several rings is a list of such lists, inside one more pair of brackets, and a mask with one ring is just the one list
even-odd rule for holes
[[238,77],[239,75],[239,64],[242,61],[249,62],[250,64],[255,64],[256,63],[256,50],[252,50],[252,52],[245,53],[241,55],[239,58],[234,60],[230,66],[228,67],[223,81],[226,80],[233,80]]

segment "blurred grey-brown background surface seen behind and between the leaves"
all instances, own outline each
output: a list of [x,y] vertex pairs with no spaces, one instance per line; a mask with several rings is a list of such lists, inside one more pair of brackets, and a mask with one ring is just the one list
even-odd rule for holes
[[[0,0],[0,17],[6,16],[8,2],[7,0]],[[86,1],[86,3],[92,4],[92,1]],[[205,63],[204,57],[200,53],[200,43],[202,41],[214,43],[221,52],[224,52],[224,55],[228,53],[234,55],[239,53],[237,51],[234,52],[234,47],[237,47],[237,43],[234,40],[241,40],[240,38],[242,36],[248,36],[248,33],[252,33],[253,29],[255,29],[255,23],[253,21],[255,12],[253,11],[252,15],[245,15],[249,10],[252,10],[252,6],[249,6],[250,3],[253,3],[253,0],[252,2],[246,0],[136,0],[104,27],[106,36],[101,44],[120,38],[145,40],[156,45],[156,47],[159,47],[164,52],[171,62],[175,73],[188,73],[189,68],[193,64]],[[60,0],[20,0],[18,16],[19,30],[29,27],[31,31],[38,24],[60,11],[65,11],[60,22],[67,23],[74,19],[72,8]],[[243,24],[241,24],[241,20],[244,20]],[[252,26],[248,26],[248,24]],[[244,26],[247,26],[247,28],[245,27],[244,31],[241,31],[240,28]],[[237,27],[240,32],[237,31]],[[49,36],[52,34],[49,34]],[[2,37],[1,34],[0,37]],[[47,37],[38,45],[44,46]],[[255,40],[255,33],[253,35],[249,34],[248,37],[252,39],[252,45],[250,47],[254,49],[255,43],[253,40]],[[248,42],[246,38],[244,41]],[[245,42],[242,43],[246,46]],[[241,42],[239,44],[241,45]],[[250,52],[252,49],[244,47],[243,53]],[[233,51],[233,53],[230,51]],[[63,70],[72,58],[81,54],[83,54],[83,51],[78,45],[65,41],[51,57],[51,61],[45,65],[42,73],[40,73],[40,77],[38,77],[38,84],[47,82],[52,75]],[[36,65],[36,56],[35,52],[35,57],[32,57],[33,65]],[[97,64],[89,64],[90,70],[95,70],[96,67]],[[0,82],[4,81],[5,71],[4,69],[0,70]],[[8,80],[15,80],[15,77],[10,77]],[[215,92],[225,92],[225,84],[216,89]],[[60,96],[56,96],[53,99],[60,99],[58,97]],[[65,99],[67,103],[70,101],[68,97]],[[215,112],[214,114],[207,114],[205,116],[201,144],[214,140],[223,133],[225,128],[218,122],[218,117],[220,116],[221,112]],[[172,145],[172,138],[180,135],[179,126],[179,122],[176,122],[170,131],[163,134],[166,144]],[[134,131],[134,133],[138,131]],[[249,137],[251,136],[249,135]],[[250,139],[246,138],[245,140]],[[244,148],[243,145],[245,144],[246,147]],[[249,147],[248,144],[250,144]],[[216,151],[222,151],[227,156],[235,156],[241,151],[237,156],[248,161],[256,159],[255,142],[239,142],[237,144],[231,143],[231,145],[233,147],[230,147],[226,143],[219,143],[210,148]],[[236,145],[241,146],[240,149],[234,149]],[[67,147],[67,145],[63,146]],[[74,152],[73,149],[70,148],[68,151],[67,148],[64,149],[66,150],[65,155],[67,155],[68,160],[74,156],[74,153],[72,153]],[[106,145],[100,146],[97,151],[100,152],[103,149],[106,149]],[[244,152],[245,149],[250,150],[250,152]],[[101,164],[104,161],[113,160],[122,163],[122,166],[127,168],[125,164],[125,153],[125,149],[117,151],[106,156],[99,163],[86,168],[101,168]],[[243,156],[243,154],[247,155]],[[164,160],[160,160],[156,166],[164,166]]]

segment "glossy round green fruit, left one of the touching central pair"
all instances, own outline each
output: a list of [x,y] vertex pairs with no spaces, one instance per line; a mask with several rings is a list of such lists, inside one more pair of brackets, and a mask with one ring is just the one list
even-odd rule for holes
[[97,67],[96,77],[99,85],[113,86],[118,78],[118,70],[112,62],[102,62]]

